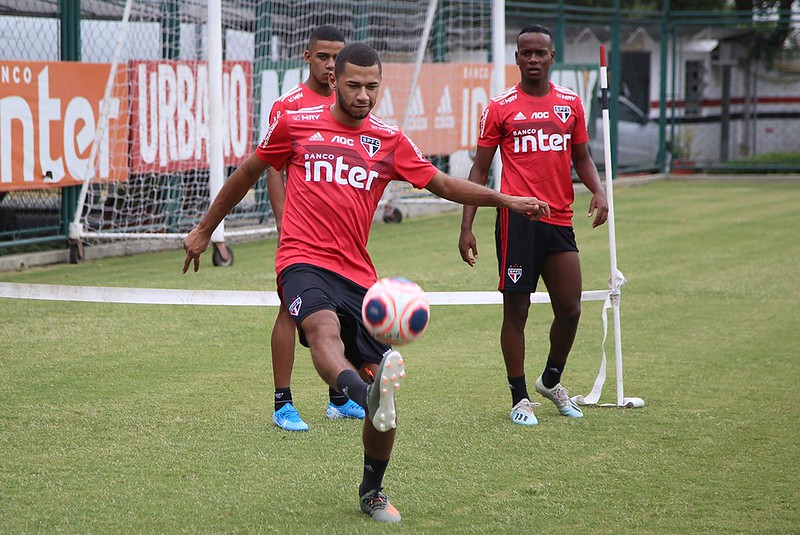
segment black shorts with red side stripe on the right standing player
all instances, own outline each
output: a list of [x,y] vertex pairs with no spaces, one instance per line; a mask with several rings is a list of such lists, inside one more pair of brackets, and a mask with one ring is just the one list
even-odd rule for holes
[[572,227],[530,221],[505,208],[497,210],[494,237],[501,292],[535,292],[550,253],[578,252]]

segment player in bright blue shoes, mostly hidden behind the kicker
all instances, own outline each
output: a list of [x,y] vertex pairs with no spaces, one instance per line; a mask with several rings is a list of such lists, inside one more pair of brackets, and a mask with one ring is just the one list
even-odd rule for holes
[[[308,78],[275,101],[269,114],[270,123],[287,111],[334,103],[336,97],[328,82],[333,72],[336,55],[344,44],[342,32],[332,26],[320,26],[311,32],[308,48],[303,54],[303,59],[309,67]],[[280,234],[286,194],[283,170],[271,167],[267,169],[267,190],[272,211],[275,214],[278,234]],[[270,339],[272,379],[275,384],[275,412],[272,415],[272,421],[287,431],[308,431],[308,424],[300,417],[292,399],[291,382],[296,332],[297,329],[289,312],[280,307]],[[325,414],[329,419],[364,418],[364,409],[336,389],[329,387],[328,397],[329,403]]]

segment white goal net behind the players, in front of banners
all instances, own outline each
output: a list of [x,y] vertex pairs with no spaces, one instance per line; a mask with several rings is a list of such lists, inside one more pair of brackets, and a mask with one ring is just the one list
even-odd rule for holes
[[[80,177],[73,240],[185,235],[213,198],[209,148],[222,145],[223,177],[251,153],[266,131],[272,103],[305,80],[303,51],[322,24],[381,53],[384,82],[373,112],[403,127],[444,171],[466,176],[478,117],[490,96],[489,2],[224,0],[216,103],[209,91],[215,44],[207,1],[92,7],[83,13],[83,61],[108,65],[109,81]],[[210,126],[215,105],[221,132]],[[390,198],[408,194],[404,188],[387,191]],[[226,237],[274,231],[264,177],[224,228]]]

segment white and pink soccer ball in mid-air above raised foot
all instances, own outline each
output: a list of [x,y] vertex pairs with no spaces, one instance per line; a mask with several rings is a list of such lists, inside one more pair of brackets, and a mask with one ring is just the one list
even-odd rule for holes
[[389,345],[413,342],[425,332],[431,315],[428,298],[415,282],[381,279],[367,290],[361,319],[373,338]]

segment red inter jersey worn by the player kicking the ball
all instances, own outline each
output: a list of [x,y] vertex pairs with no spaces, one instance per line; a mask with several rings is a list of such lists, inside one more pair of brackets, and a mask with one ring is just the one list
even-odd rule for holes
[[275,270],[311,264],[370,287],[376,280],[367,240],[392,180],[424,188],[437,172],[399,128],[368,115],[358,128],[330,106],[288,111],[270,124],[256,156],[286,165],[286,206]]

